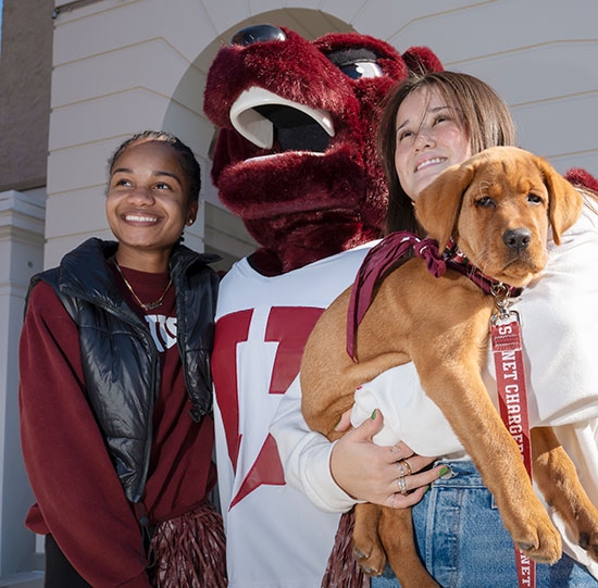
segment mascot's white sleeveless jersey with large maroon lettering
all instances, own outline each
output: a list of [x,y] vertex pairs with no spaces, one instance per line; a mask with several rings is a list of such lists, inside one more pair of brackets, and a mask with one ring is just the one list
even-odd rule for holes
[[212,371],[231,588],[321,586],[339,515],[285,485],[269,429],[315,321],[351,285],[369,248],[275,277],[241,260],[221,284]]

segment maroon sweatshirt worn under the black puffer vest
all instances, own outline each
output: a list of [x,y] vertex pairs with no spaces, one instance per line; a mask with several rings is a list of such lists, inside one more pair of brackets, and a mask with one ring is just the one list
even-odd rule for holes
[[[144,301],[160,298],[166,274],[123,268]],[[115,273],[115,271],[114,271]],[[116,275],[116,273],[115,273]],[[140,316],[122,280],[125,300]],[[213,488],[213,421],[191,421],[173,326],[174,288],[147,313],[162,363],[153,440],[142,502],[150,524],[192,510]],[[158,315],[158,316],[157,316]],[[86,399],[78,333],[50,286],[32,292],[20,343],[21,436],[37,503],[26,526],[52,534],[92,586],[148,587],[142,539]]]

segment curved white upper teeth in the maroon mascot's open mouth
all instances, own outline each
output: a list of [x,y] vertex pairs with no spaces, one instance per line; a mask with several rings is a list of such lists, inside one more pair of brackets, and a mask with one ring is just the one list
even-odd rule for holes
[[262,149],[272,149],[274,128],[300,126],[306,120],[320,125],[334,137],[334,124],[328,112],[287,100],[257,86],[242,91],[231,107],[231,123],[247,140]]

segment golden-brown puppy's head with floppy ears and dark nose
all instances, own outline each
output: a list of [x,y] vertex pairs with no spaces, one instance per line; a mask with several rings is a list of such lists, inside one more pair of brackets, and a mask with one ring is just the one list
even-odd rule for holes
[[546,160],[494,147],[443,172],[418,198],[415,214],[441,247],[452,236],[482,272],[524,286],[546,264],[549,226],[559,245],[581,208],[577,190]]

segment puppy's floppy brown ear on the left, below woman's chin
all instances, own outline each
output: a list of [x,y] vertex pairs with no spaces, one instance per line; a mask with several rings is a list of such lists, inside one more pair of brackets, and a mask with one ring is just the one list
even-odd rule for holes
[[440,250],[453,236],[461,211],[463,192],[475,175],[475,165],[463,163],[447,167],[415,201],[415,216],[427,236],[438,241]]

